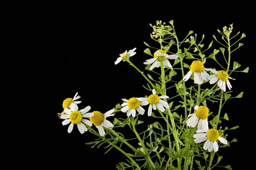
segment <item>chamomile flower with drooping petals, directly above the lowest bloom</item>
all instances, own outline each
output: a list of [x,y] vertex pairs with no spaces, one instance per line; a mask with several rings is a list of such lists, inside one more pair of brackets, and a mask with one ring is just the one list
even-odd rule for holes
[[[209,129],[208,127],[208,116],[209,109],[206,106],[195,106],[195,113],[189,114],[186,124],[189,127],[195,127],[198,125],[198,130]],[[198,122],[199,119],[199,122]]]

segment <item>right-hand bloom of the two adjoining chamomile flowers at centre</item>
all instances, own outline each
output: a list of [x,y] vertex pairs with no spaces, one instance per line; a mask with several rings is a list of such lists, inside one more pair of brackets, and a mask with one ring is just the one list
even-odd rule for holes
[[152,94],[150,96],[148,96],[148,98],[144,98],[149,103],[148,116],[151,116],[152,108],[154,110],[157,110],[157,108],[158,108],[161,112],[164,112],[165,108],[169,108],[168,103],[166,101],[162,100],[162,99],[168,99],[168,98],[169,98],[169,96],[158,96],[156,94],[156,90],[153,89]]

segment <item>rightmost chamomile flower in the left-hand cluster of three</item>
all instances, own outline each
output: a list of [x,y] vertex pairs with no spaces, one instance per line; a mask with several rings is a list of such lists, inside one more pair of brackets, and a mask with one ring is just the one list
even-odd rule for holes
[[111,109],[110,111],[107,111],[104,114],[99,111],[92,112],[94,116],[90,117],[90,121],[93,123],[93,125],[97,127],[97,129],[99,130],[100,136],[105,135],[105,131],[103,127],[106,127],[106,128],[114,127],[114,125],[106,119],[109,116],[114,116],[115,115],[115,113],[113,113],[114,111],[115,109]]

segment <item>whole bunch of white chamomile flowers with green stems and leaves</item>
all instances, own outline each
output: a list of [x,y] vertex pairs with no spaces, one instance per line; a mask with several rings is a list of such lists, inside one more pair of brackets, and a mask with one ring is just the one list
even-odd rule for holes
[[[211,170],[219,166],[231,170],[230,164],[222,162],[222,156],[216,153],[236,142],[227,132],[238,126],[222,125],[223,120],[229,120],[223,105],[243,96],[243,92],[232,96],[231,84],[238,73],[249,70],[240,69],[233,58],[233,52],[242,46],[236,44],[245,34],[233,36],[231,24],[223,31],[217,30],[221,40],[213,35],[213,40],[205,44],[204,34],[200,38],[193,31],[178,39],[173,20],[169,25],[157,21],[150,26],[156,45],[144,42],[144,53],[149,57],[143,62],[145,71],[130,61],[132,56],[136,61],[137,48],[119,54],[113,63],[134,67],[148,82],[143,85],[145,94],[124,94],[127,99],[116,99],[119,102],[115,107],[101,113],[98,108],[90,111],[90,106],[79,110],[81,101],[76,101],[80,98],[76,93],[63,101],[64,110],[58,113],[64,119],[62,124],[70,124],[68,133],[76,124],[80,133],[88,131],[98,136],[101,140],[88,143],[93,147],[108,144],[106,153],[114,147],[124,154],[127,160],[117,164],[117,170]],[[149,118],[154,123],[148,125]],[[127,134],[119,128],[127,128]],[[124,145],[130,150],[125,151]]]

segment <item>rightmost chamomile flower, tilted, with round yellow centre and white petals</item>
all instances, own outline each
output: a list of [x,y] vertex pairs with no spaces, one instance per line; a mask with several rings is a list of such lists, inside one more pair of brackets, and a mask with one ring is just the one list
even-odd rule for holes
[[226,71],[223,71],[223,70],[216,71],[212,68],[206,68],[206,70],[214,73],[212,75],[209,75],[208,77],[208,79],[210,80],[210,84],[214,84],[215,82],[218,82],[218,87],[221,88],[223,91],[226,91],[226,82],[227,82],[227,87],[231,90],[232,86],[228,79],[233,79],[233,78],[229,77]]

